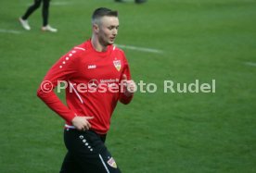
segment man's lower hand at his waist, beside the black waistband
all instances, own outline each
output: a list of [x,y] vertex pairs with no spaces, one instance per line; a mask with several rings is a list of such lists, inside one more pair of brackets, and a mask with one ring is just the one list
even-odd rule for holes
[[89,119],[92,119],[94,117],[74,117],[72,119],[72,124],[77,130],[89,130],[91,128],[91,124],[88,121]]

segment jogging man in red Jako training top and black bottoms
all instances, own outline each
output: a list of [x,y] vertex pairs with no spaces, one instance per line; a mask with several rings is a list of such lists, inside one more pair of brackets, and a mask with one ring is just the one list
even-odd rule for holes
[[[61,173],[120,173],[104,142],[118,101],[129,104],[135,90],[124,53],[113,45],[118,12],[105,7],[92,16],[92,38],[75,46],[50,68],[37,95],[66,120],[68,149]],[[63,105],[53,89],[66,84]]]

